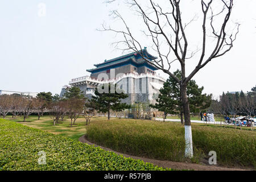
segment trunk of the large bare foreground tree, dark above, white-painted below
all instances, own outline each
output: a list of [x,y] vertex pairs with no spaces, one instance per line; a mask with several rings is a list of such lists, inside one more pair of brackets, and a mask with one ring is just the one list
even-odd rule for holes
[[191,121],[190,121],[190,112],[189,112],[186,85],[184,84],[180,85],[180,93],[181,93],[183,114],[184,114],[185,157],[192,158],[193,157],[192,130],[191,130]]

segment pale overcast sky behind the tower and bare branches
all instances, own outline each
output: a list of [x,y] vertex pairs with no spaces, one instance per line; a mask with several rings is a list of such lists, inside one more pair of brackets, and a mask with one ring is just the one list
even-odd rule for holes
[[[185,12],[200,5],[187,2],[181,7]],[[46,5],[45,15],[40,5]],[[227,91],[246,92],[255,86],[255,7],[255,0],[235,3],[232,20],[241,23],[241,29],[232,51],[193,78],[204,86],[205,93],[218,96]],[[110,45],[117,41],[116,36],[96,30],[102,23],[122,28],[109,16],[113,9],[121,11],[131,29],[141,30],[133,12],[120,4],[107,6],[101,0],[0,0],[0,90],[59,94],[72,78],[89,75],[86,69],[94,68],[93,64],[122,55]],[[150,42],[142,46],[150,46]],[[174,64],[173,70],[177,68]]]

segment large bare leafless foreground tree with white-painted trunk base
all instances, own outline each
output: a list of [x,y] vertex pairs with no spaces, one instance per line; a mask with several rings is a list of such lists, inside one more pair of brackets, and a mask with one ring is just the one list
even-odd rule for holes
[[[114,2],[107,1],[107,2]],[[187,98],[187,84],[197,72],[200,71],[205,65],[207,65],[213,59],[223,56],[226,52],[230,51],[233,47],[233,42],[236,40],[237,33],[239,30],[239,24],[237,24],[237,31],[235,34],[228,34],[226,29],[227,24],[230,20],[230,15],[233,8],[233,0],[201,0],[200,6],[203,13],[203,23],[201,33],[203,35],[201,49],[196,51],[191,51],[189,53],[189,42],[187,39],[187,34],[185,28],[195,20],[191,19],[188,23],[184,23],[183,16],[181,16],[181,6],[180,0],[170,0],[167,1],[165,6],[159,5],[159,1],[148,0],[149,6],[143,3],[139,3],[138,0],[128,0],[130,7],[134,7],[139,15],[142,17],[142,22],[146,27],[144,34],[152,40],[152,49],[158,53],[158,59],[152,60],[152,57],[148,57],[141,50],[141,42],[139,39],[135,38],[132,34],[128,24],[125,19],[118,13],[117,10],[113,11],[115,18],[121,19],[125,26],[124,30],[115,30],[111,27],[102,26],[101,31],[112,31],[115,34],[120,34],[123,36],[123,40],[115,42],[117,48],[125,46],[125,48],[119,48],[123,51],[132,50],[137,52],[142,58],[148,63],[154,65],[156,68],[167,73],[172,78],[174,78],[180,84],[180,93],[182,98],[183,114],[184,114],[184,124],[185,124],[185,156],[192,158],[193,147],[192,147],[192,131],[191,131],[191,117],[189,111],[189,104]],[[198,1],[197,1],[198,2]],[[216,6],[221,6],[221,9],[216,9]],[[216,12],[218,11],[218,12]],[[214,20],[217,20],[216,23]],[[210,32],[207,32],[207,26]],[[207,35],[214,39],[214,42],[207,43]],[[162,49],[161,46],[164,45],[168,47]],[[207,54],[207,45],[210,47],[214,45],[212,51]],[[209,49],[209,48],[208,48]],[[188,75],[185,72],[186,60],[191,59],[195,53],[201,52],[201,56],[197,61],[196,67]],[[206,56],[208,55],[208,56]],[[174,58],[175,57],[175,58]],[[171,73],[171,64],[174,61],[179,61],[181,67],[181,79],[174,76]]]

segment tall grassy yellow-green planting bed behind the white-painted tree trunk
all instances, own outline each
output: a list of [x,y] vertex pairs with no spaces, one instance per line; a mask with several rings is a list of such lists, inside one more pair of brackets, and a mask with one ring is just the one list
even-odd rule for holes
[[[112,119],[92,122],[90,141],[126,154],[182,162],[184,127],[180,123]],[[193,162],[208,159],[216,151],[217,163],[226,166],[256,167],[256,132],[221,127],[192,126]]]

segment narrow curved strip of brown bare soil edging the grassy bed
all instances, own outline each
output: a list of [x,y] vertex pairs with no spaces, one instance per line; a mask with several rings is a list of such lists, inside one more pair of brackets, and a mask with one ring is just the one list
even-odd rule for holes
[[[79,138],[79,141],[82,143],[88,143],[89,145],[93,145],[94,143],[89,142],[85,135]],[[242,169],[242,168],[228,168],[228,167],[220,167],[220,166],[210,166],[210,165],[201,165],[201,164],[193,164],[193,163],[185,163],[185,162],[172,162],[169,160],[156,160],[156,159],[149,159],[149,158],[143,158],[138,156],[132,156],[128,154],[122,154],[121,152],[114,151],[110,148],[98,146],[97,144],[94,144],[96,147],[100,147],[103,150],[115,152],[118,155],[123,155],[126,158],[133,158],[133,159],[140,159],[143,160],[146,163],[151,163],[159,167],[164,168],[173,168],[173,169],[190,169],[195,171],[249,171],[252,169]]]

